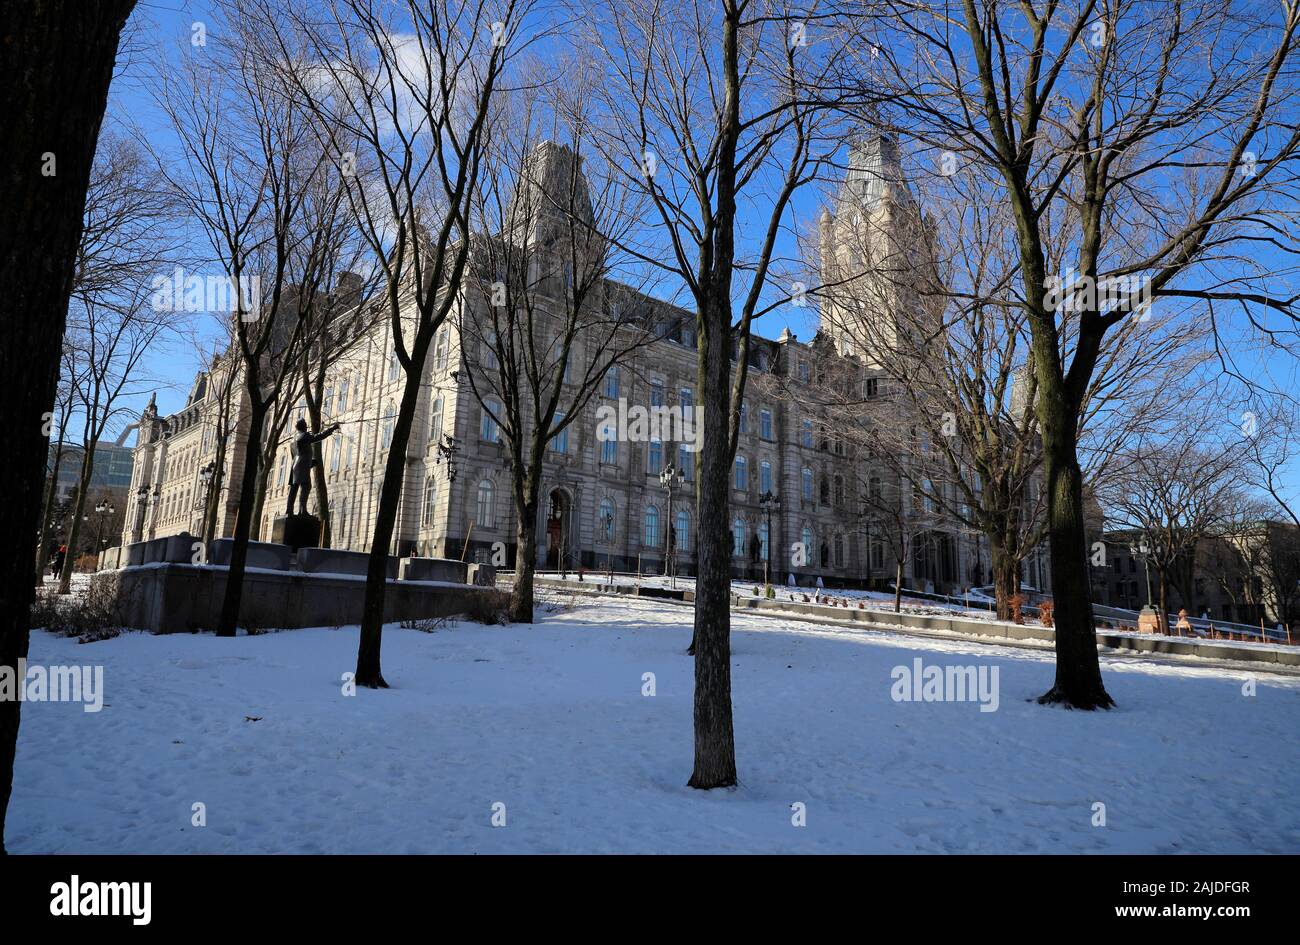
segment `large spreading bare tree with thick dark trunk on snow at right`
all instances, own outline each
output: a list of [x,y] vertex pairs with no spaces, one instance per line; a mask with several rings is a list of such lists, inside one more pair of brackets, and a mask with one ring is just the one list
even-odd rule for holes
[[[1300,3],[885,0],[853,13],[852,86],[878,90],[892,123],[936,156],[1000,181],[1057,601],[1057,677],[1041,702],[1109,707],[1086,567],[1083,406],[1106,334],[1152,300],[1212,318],[1242,311],[1264,328],[1270,313],[1294,317],[1295,298],[1264,281],[1296,250],[1280,214],[1300,166]],[[1052,270],[1053,246],[1069,247],[1072,272]]]

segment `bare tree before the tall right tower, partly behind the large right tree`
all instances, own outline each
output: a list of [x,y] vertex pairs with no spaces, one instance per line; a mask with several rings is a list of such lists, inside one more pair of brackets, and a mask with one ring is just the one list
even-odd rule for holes
[[[950,170],[916,168],[888,133],[850,148],[845,196],[818,227],[823,282],[811,295],[831,350],[812,387],[837,429],[950,526],[987,538],[997,614],[1009,620],[1046,525],[1031,328],[997,181]],[[1205,334],[1147,313],[1108,335],[1079,422],[1092,476],[1174,403],[1148,374],[1174,361],[1193,372],[1210,357]]]

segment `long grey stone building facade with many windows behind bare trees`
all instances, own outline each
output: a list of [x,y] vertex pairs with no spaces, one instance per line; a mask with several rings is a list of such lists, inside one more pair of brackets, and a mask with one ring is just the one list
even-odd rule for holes
[[[880,147],[876,139],[876,147]],[[559,156],[567,148],[543,146]],[[867,151],[855,151],[870,156]],[[879,155],[878,155],[879,156]],[[888,157],[888,155],[887,155]],[[850,179],[837,199],[837,212],[862,196]],[[870,194],[867,195],[870,198]],[[832,227],[833,229],[833,227]],[[637,295],[625,287],[625,294]],[[601,381],[585,416],[556,437],[547,450],[545,500],[540,510],[536,555],[541,567],[662,572],[670,534],[676,545],[677,573],[694,572],[696,529],[692,508],[694,455],[682,443],[620,442],[597,435],[597,411],[620,400],[646,407],[694,409],[694,317],[662,300],[642,302],[671,317],[660,337],[611,369]],[[393,438],[404,381],[393,355],[390,328],[382,320],[356,337],[330,367],[322,419],[339,422],[341,432],[321,445],[328,500],[320,508],[318,490],[311,502],[329,515],[335,547],[365,550],[372,534],[385,460]],[[472,341],[459,337],[455,320],[436,335],[425,363],[415,428],[407,446],[402,500],[391,554],[515,560],[515,523],[508,456],[497,424],[480,407],[464,372],[477,363],[467,352]],[[827,356],[844,356],[826,333],[805,343],[789,330],[780,338],[755,338],[749,355],[749,393],[732,469],[733,572],[762,577],[770,562],[771,580],[785,582],[793,573],[802,585],[823,577],[828,585],[884,586],[893,580],[893,562],[881,552],[859,507],[859,490],[874,480],[862,460],[832,435],[826,435],[810,396],[800,396]],[[578,357],[582,352],[578,352]],[[863,361],[864,369],[870,364]],[[159,417],[152,404],[140,419],[135,448],[131,504],[124,541],[188,532],[200,534],[205,511],[216,503],[218,536],[230,534],[240,504],[239,469],[243,454],[240,424],[246,409],[239,385],[233,385],[229,409],[231,435],[220,493],[209,485],[217,463],[217,417],[221,382],[230,369],[218,361],[195,382],[186,407]],[[304,415],[304,407],[289,416]],[[289,493],[290,437],[282,443],[266,478],[266,495],[254,537],[269,539]],[[451,437],[455,452],[439,452]],[[673,463],[686,487],[668,497],[659,473]],[[766,500],[764,500],[766,497]],[[671,528],[671,532],[670,532]],[[798,545],[802,554],[792,554]],[[1027,575],[1041,586],[1045,569],[1035,564]],[[915,543],[904,571],[916,589],[958,593],[988,581],[987,554],[972,536],[936,526]]]

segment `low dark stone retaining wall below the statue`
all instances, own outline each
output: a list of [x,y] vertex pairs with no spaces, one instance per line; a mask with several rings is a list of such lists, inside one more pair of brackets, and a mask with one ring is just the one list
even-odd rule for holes
[[[118,619],[125,627],[153,633],[213,629],[221,615],[229,569],[213,564],[160,563],[104,571],[95,584],[117,588]],[[254,629],[344,627],[361,621],[365,581],[300,571],[252,569],[244,573],[239,625]],[[506,608],[495,588],[459,588],[389,581],[385,623],[468,615],[491,619]]]

